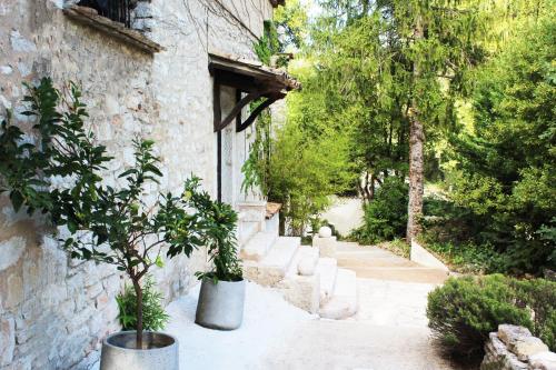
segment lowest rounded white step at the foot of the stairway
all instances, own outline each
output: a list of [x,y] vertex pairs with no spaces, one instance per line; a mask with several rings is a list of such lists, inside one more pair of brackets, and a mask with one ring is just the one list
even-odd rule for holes
[[358,304],[356,273],[338,269],[334,294],[327,302],[320,303],[320,317],[332,320],[347,319],[357,312]]

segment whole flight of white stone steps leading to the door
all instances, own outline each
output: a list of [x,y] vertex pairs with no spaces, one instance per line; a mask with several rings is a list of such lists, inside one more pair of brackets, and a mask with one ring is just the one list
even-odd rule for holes
[[[279,291],[290,303],[321,318],[341,320],[358,307],[354,271],[336,259],[301,246],[297,237],[278,234],[278,213],[262,213],[262,204],[240,204],[239,241],[248,280]],[[266,207],[265,207],[266,209]]]

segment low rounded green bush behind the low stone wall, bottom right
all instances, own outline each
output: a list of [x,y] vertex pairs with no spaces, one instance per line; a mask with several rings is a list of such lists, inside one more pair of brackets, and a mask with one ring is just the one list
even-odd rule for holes
[[483,357],[488,333],[500,323],[526,327],[554,350],[556,282],[502,274],[451,278],[429,293],[427,317],[443,349],[459,358]]

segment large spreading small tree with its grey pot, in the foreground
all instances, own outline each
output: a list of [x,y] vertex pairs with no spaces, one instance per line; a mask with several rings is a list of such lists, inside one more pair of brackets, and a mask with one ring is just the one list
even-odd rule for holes
[[[162,266],[162,251],[172,258],[189,256],[200,247],[200,213],[191,213],[187,198],[198,181],[186,183],[180,197],[159,194],[153,204],[143,201],[143,188],[162,176],[153,156],[153,142],[135,140],[136,163],[118,178],[117,190],[102,182],[101,171],[111,160],[85,128],[87,117],[80,91],[69,84],[63,94],[43,79],[28,87],[28,116],[40,142],[28,142],[10,124],[0,132],[0,192],[9,191],[16,210],[40,210],[67,232],[60,238],[72,258],[115,264],[130,279],[137,299],[135,331],[122,331],[103,341],[101,369],[178,369],[178,343],[161,332],[143,331],[142,278]],[[62,108],[60,108],[62,107]],[[57,186],[61,182],[62,186]]]

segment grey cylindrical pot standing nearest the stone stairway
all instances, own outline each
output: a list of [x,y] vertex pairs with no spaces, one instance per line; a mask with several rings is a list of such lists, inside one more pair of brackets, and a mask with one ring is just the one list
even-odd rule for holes
[[205,328],[234,330],[244,321],[245,280],[203,279],[195,322]]

